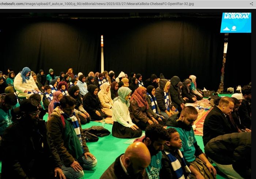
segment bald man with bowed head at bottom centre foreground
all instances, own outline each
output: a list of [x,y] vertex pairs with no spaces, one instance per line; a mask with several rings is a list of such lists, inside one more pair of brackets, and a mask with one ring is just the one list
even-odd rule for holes
[[101,179],[143,179],[150,160],[150,152],[144,143],[132,143],[102,174]]

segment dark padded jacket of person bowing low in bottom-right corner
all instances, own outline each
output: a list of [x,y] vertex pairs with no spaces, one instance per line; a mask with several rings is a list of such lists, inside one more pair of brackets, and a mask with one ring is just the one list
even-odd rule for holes
[[232,164],[242,177],[251,178],[251,144],[251,132],[235,132],[211,139],[204,151],[215,162]]

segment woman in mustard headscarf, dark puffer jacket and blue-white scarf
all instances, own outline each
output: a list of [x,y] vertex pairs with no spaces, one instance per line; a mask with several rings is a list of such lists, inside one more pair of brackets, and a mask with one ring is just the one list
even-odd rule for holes
[[167,79],[159,80],[159,87],[155,90],[155,97],[157,98],[157,104],[161,110],[161,114],[167,119],[172,116],[173,111],[176,110],[171,103],[171,97],[169,95],[170,81]]

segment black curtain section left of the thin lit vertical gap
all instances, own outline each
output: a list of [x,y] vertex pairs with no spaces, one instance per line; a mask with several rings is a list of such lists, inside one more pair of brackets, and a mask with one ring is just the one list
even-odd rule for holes
[[17,74],[27,66],[36,74],[52,68],[56,76],[99,70],[100,34],[90,20],[8,19],[1,23],[1,70]]

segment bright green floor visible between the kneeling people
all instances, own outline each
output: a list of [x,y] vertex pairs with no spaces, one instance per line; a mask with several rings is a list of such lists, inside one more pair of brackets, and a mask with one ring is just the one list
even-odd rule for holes
[[[48,114],[44,116],[44,120],[47,120]],[[100,122],[91,121],[88,124],[82,125],[82,128],[90,128],[93,125],[101,125]],[[112,124],[106,124],[105,128],[112,132]],[[203,149],[202,136],[196,136],[197,143]],[[125,152],[128,144],[131,143],[131,139],[118,139],[113,137],[112,134],[99,137],[97,142],[87,143],[89,150],[97,158],[98,164],[91,171],[84,171],[84,179],[99,179],[103,172],[114,162],[117,156]],[[1,169],[1,162],[0,162]],[[221,173],[217,175],[217,179],[227,179],[227,177]]]

